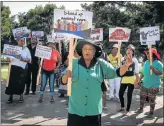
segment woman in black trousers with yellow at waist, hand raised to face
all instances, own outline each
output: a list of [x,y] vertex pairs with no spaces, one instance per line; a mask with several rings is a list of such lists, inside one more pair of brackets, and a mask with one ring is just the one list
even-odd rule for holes
[[[120,91],[119,91],[121,109],[119,109],[118,111],[119,112],[125,111],[124,115],[129,114],[130,106],[131,106],[131,102],[132,102],[133,90],[134,90],[134,87],[138,86],[138,82],[139,82],[139,65],[138,65],[138,60],[135,58],[134,50],[135,50],[135,47],[130,44],[126,50],[126,55],[122,61],[122,64],[124,64],[128,57],[131,57],[131,59],[132,59],[132,64],[129,66],[126,73],[121,76],[121,86],[120,86]],[[125,90],[127,87],[128,87],[127,107],[125,110],[124,93],[125,93]]]

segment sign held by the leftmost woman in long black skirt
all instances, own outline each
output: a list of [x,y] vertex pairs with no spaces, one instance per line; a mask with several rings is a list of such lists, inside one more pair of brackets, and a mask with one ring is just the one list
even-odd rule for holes
[[4,44],[3,56],[8,58],[20,58],[22,47]]

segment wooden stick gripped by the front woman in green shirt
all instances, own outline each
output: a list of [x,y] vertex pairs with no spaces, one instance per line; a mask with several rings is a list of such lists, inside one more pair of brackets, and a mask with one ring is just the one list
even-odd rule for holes
[[[69,42],[69,60],[68,60],[68,70],[72,72],[72,60],[73,60],[73,41],[74,39],[71,38]],[[68,84],[67,84],[67,95],[71,96],[71,85],[72,85],[72,78],[68,78]]]

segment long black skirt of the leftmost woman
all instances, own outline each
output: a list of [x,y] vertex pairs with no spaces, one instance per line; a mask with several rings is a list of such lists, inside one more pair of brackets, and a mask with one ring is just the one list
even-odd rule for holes
[[5,94],[7,95],[21,95],[25,89],[26,70],[19,66],[11,66],[10,79],[8,87],[6,87]]

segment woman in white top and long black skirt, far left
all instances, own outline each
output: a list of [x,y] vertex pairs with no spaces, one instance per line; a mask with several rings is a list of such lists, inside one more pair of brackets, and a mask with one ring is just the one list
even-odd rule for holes
[[22,103],[23,92],[25,88],[26,80],[26,66],[27,63],[31,62],[31,54],[27,47],[24,47],[24,39],[18,39],[18,46],[22,47],[21,58],[20,59],[10,59],[11,70],[9,85],[6,87],[5,93],[9,95],[7,103],[13,102],[13,95],[20,95],[19,102]]

